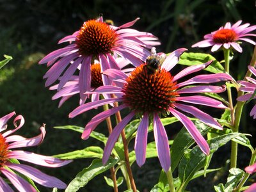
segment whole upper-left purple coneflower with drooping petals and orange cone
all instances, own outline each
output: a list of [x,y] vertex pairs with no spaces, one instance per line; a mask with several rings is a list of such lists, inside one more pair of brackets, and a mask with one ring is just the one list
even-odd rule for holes
[[[58,84],[58,90],[63,88],[72,75],[79,70],[79,93],[84,100],[84,92],[90,91],[92,74],[91,63],[99,60],[101,70],[117,68],[114,54],[129,60],[138,66],[150,54],[149,49],[159,45],[157,38],[151,33],[130,29],[139,18],[123,24],[120,27],[110,26],[103,22],[102,17],[84,22],[79,31],[61,39],[60,43],[70,42],[70,45],[51,52],[39,63],[52,66],[44,78],[45,86],[54,83],[63,73]],[[67,70],[66,70],[67,68]],[[102,76],[104,84],[109,84],[108,78]]]

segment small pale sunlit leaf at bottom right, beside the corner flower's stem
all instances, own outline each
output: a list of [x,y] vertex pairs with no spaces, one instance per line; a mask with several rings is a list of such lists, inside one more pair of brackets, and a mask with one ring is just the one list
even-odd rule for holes
[[239,168],[232,168],[229,170],[227,183],[225,184],[225,192],[232,192],[236,188],[239,181],[243,178],[244,172]]

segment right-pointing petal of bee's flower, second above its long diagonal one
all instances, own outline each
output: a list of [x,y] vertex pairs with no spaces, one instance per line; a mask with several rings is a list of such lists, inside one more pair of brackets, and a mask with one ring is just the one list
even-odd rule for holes
[[210,106],[212,108],[220,108],[220,109],[227,109],[227,106],[224,106],[222,102],[219,100],[212,99],[210,97],[204,97],[200,95],[196,96],[186,96],[186,97],[177,97],[176,100],[182,102],[188,102],[192,104],[200,104],[204,106]]

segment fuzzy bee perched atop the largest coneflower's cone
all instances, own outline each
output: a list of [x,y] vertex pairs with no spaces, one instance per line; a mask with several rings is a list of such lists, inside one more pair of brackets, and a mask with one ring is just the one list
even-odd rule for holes
[[151,54],[146,60],[145,67],[147,68],[148,74],[152,75],[159,70],[163,61],[165,60],[166,55],[164,53],[156,53],[156,48],[152,47]]

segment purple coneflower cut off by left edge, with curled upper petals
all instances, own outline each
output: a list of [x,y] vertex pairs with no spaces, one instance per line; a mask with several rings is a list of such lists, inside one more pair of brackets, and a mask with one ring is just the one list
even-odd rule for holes
[[[8,120],[15,115],[15,112],[12,112],[6,116],[0,118],[0,131],[4,131],[7,128]],[[20,121],[19,125],[18,122]],[[32,147],[39,145],[44,140],[45,128],[42,126],[41,134],[33,138],[24,138],[19,135],[12,135],[13,132],[17,131],[24,125],[24,118],[21,115],[18,115],[13,121],[15,129],[6,131],[0,134],[0,172],[12,182],[13,186],[17,188],[18,191],[36,191],[31,184],[29,184],[25,179],[20,177],[15,172],[25,175],[26,177],[34,180],[38,184],[48,188],[60,188],[65,189],[67,185],[61,180],[46,175],[40,170],[28,166],[26,164],[17,164],[13,163],[12,159],[18,159],[21,161],[27,161],[29,163],[38,164],[41,166],[48,166],[51,168],[63,166],[70,163],[71,161],[63,161],[54,157],[42,156],[34,154],[32,152],[26,152],[24,150],[13,150],[14,148],[20,147]],[[0,191],[13,191],[13,189],[7,184],[6,180],[3,177],[0,177]]]

